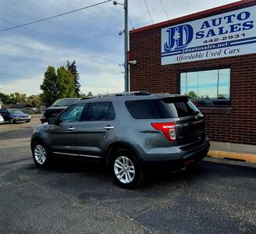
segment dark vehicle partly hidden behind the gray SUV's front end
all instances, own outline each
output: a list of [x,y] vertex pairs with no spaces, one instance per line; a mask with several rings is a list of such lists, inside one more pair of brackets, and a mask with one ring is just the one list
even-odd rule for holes
[[56,100],[50,107],[45,108],[41,112],[41,123],[47,122],[49,118],[55,117],[60,112],[65,110],[69,105],[75,101],[80,100],[79,98],[61,98]]

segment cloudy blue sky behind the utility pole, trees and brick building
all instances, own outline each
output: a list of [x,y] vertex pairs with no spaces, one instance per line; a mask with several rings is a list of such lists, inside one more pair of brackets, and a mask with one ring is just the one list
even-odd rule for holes
[[[103,0],[0,0],[0,30]],[[123,3],[123,1],[119,1]],[[225,5],[233,0],[146,0],[154,23]],[[151,24],[144,0],[129,0],[130,30]],[[0,32],[0,92],[40,94],[48,66],[76,60],[81,92],[124,89],[122,5],[107,2],[52,20]]]

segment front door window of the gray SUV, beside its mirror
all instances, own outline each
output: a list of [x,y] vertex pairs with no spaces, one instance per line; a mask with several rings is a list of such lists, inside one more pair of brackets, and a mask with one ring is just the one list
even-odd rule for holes
[[79,122],[81,119],[82,112],[84,111],[86,106],[87,105],[85,103],[73,105],[66,112],[62,113],[62,115],[59,118],[59,122]]

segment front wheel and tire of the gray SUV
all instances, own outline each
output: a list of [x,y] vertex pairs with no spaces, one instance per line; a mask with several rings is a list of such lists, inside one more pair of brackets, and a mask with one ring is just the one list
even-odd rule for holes
[[34,163],[38,168],[46,168],[51,163],[51,154],[41,140],[34,142],[32,146]]

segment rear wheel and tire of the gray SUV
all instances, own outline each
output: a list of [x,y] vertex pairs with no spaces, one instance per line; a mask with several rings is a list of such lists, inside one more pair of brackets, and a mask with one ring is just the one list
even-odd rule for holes
[[144,182],[144,168],[131,151],[126,149],[116,151],[112,156],[110,167],[116,183],[125,189],[134,189]]

